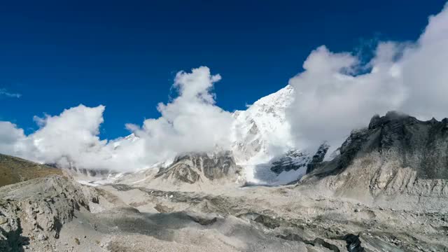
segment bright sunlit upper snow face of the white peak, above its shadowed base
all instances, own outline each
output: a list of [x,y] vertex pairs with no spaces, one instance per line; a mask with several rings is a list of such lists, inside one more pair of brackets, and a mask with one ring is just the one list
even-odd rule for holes
[[293,102],[293,87],[262,97],[246,111],[235,111],[232,151],[239,164],[268,162],[293,148],[286,109]]

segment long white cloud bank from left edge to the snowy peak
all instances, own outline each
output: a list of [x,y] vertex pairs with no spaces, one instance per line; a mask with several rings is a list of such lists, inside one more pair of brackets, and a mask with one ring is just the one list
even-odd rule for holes
[[177,73],[174,88],[179,97],[158,105],[160,118],[145,120],[142,127],[127,125],[138,135],[135,141],[99,139],[105,107],[81,104],[59,116],[35,117],[40,128],[28,136],[16,125],[0,122],[0,153],[60,167],[132,171],[177,153],[228,148],[233,119],[215,105],[211,92],[220,79],[204,66]]

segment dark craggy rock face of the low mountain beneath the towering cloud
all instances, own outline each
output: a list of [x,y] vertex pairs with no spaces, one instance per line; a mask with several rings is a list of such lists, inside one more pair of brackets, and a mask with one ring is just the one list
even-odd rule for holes
[[201,180],[201,174],[209,180],[215,180],[235,175],[239,170],[230,151],[185,153],[178,155],[169,167],[161,168],[155,177],[193,184]]

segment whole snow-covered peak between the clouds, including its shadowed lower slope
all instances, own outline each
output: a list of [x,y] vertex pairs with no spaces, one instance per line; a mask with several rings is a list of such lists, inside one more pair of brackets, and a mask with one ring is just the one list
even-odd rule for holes
[[286,120],[294,99],[293,87],[262,97],[246,111],[235,111],[232,152],[244,167],[246,181],[279,185],[295,181],[307,171],[316,150],[297,150]]

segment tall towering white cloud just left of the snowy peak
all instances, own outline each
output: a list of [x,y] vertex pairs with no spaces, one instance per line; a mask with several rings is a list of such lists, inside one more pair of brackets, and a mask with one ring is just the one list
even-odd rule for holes
[[174,87],[179,90],[179,97],[158,105],[162,116],[145,120],[143,127],[127,127],[144,139],[151,156],[169,158],[176,153],[228,148],[233,118],[215,105],[211,88],[218,80],[221,76],[211,75],[205,66],[191,73],[177,73]]

